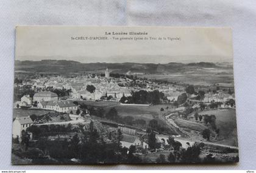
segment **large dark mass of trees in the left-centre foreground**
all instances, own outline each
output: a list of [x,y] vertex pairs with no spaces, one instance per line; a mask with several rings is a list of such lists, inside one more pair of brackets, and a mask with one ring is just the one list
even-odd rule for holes
[[[37,144],[44,154],[62,161],[70,163],[71,158],[77,158],[80,163],[140,163],[141,160],[133,155],[134,146],[129,149],[119,146],[118,141],[105,143],[101,135],[94,128],[93,121],[90,123],[88,131],[73,135],[71,139],[57,139],[54,141],[40,138]],[[43,160],[41,160],[43,161]]]

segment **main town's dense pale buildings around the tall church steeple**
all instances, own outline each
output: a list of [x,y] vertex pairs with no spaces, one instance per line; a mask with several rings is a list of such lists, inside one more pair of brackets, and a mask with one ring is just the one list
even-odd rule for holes
[[[137,83],[144,83],[143,87],[131,86],[133,80],[129,78],[112,78],[110,77],[110,72],[108,69],[105,70],[105,76],[84,74],[77,76],[38,76],[37,78],[30,79],[29,81],[23,81],[23,84],[19,84],[19,88],[23,86],[30,86],[32,90],[36,92],[39,90],[46,90],[51,87],[52,89],[66,89],[71,90],[70,97],[74,100],[101,100],[103,97],[112,96],[113,101],[119,101],[121,97],[129,97],[132,90],[159,90],[165,93],[170,101],[177,100],[177,97],[181,94],[176,88],[177,86],[172,86],[171,84],[157,84],[154,81],[144,81],[138,79]],[[93,85],[96,89],[94,92],[89,92],[87,90],[88,85]],[[36,93],[37,94],[37,93]],[[57,96],[55,95],[55,101],[57,101]],[[39,97],[35,97],[34,101],[40,100]],[[49,101],[45,100],[44,101]],[[23,101],[21,101],[23,102]],[[26,103],[29,104],[27,100]]]

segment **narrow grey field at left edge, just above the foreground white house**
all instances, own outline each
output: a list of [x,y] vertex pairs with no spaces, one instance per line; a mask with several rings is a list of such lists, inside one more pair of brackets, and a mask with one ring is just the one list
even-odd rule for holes
[[20,117],[27,117],[32,114],[41,115],[48,112],[55,112],[54,110],[43,110],[43,109],[13,109],[13,118],[16,118],[18,115]]

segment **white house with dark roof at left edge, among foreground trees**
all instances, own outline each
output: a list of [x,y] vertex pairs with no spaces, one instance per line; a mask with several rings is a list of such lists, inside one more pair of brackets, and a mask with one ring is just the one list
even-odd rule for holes
[[26,132],[27,127],[32,126],[33,121],[28,117],[16,117],[12,123],[12,137],[21,139],[21,132]]

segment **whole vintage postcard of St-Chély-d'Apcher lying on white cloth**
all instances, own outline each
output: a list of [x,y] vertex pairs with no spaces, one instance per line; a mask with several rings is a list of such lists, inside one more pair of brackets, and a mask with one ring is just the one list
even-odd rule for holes
[[12,164],[236,163],[232,30],[16,27]]

